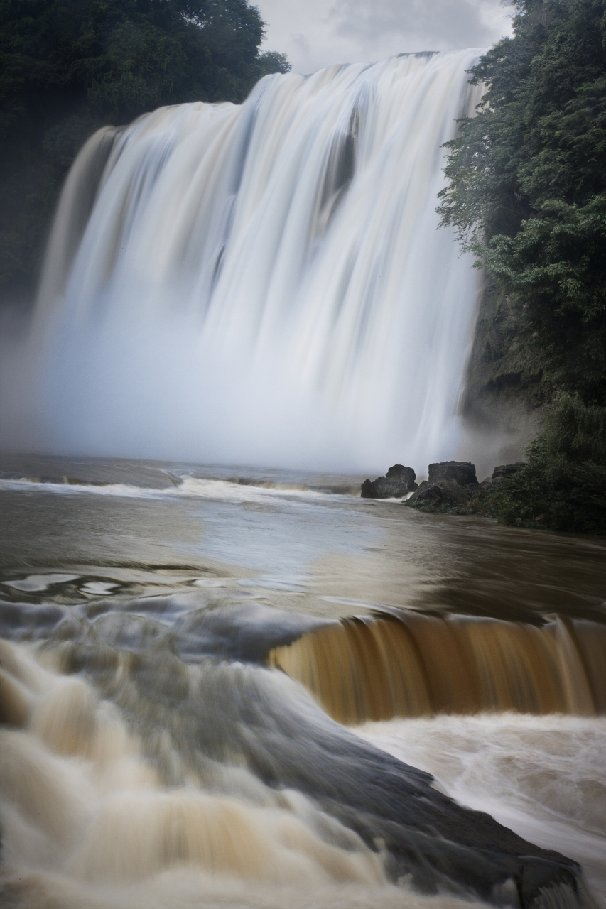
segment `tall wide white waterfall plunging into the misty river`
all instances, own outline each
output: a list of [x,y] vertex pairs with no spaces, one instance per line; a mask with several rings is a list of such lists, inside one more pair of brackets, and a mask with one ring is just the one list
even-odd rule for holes
[[267,76],[243,105],[93,136],[8,357],[14,445],[350,470],[455,454],[477,273],[436,195],[477,56]]

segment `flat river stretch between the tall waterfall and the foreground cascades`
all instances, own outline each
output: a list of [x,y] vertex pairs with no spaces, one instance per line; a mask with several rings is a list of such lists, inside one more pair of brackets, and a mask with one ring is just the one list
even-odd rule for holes
[[[331,493],[356,489],[358,477],[34,456],[18,469],[18,462],[16,455],[0,462],[9,571],[69,566],[151,593],[158,576],[150,567],[184,569],[185,584],[201,574],[224,578],[225,601],[239,602],[240,592],[227,587],[247,580],[281,608],[335,616],[391,606],[606,621],[606,541],[598,538]],[[25,475],[46,482],[19,482]],[[68,475],[82,484],[64,483]],[[249,484],[268,477],[271,488]],[[106,485],[84,485],[91,482]]]

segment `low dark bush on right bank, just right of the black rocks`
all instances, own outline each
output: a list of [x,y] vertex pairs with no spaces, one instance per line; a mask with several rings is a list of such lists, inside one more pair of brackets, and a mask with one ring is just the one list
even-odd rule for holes
[[490,496],[503,524],[606,534],[606,407],[558,396],[529,460]]

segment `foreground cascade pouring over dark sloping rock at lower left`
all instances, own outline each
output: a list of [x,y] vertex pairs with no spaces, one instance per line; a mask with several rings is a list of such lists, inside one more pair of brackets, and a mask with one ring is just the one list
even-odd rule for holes
[[0,661],[3,905],[278,907],[290,887],[301,906],[592,907],[578,864],[460,806],[275,669],[69,640],[2,641]]

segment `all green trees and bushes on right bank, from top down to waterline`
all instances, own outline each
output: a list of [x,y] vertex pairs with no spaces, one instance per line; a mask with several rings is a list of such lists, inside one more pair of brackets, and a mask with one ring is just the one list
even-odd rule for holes
[[547,401],[528,463],[477,507],[606,534],[606,0],[516,8],[471,71],[487,91],[449,143],[439,210],[507,300]]

